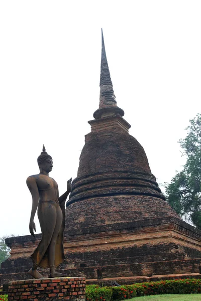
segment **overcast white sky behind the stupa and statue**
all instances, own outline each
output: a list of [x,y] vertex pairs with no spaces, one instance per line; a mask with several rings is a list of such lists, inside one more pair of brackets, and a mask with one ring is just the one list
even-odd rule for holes
[[98,108],[102,27],[130,134],[158,183],[181,169],[177,141],[201,112],[200,16],[193,0],[0,2],[0,237],[29,234],[26,179],[43,143],[60,193],[76,177]]

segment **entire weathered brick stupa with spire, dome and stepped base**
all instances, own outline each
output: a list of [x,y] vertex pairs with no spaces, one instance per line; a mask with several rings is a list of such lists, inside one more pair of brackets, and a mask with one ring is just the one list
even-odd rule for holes
[[[123,115],[102,33],[99,108],[89,121],[91,132],[67,202],[67,262],[60,271],[87,279],[198,273],[201,233],[166,202]],[[39,240],[39,234],[36,240],[31,235],[7,239],[12,253],[0,270],[3,283],[29,277],[29,256]]]

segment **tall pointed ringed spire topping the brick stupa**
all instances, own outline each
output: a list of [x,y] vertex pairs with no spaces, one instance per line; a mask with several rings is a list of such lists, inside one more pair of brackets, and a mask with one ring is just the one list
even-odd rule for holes
[[113,90],[113,83],[108,67],[104,35],[102,29],[102,55],[100,63],[100,100],[99,109],[97,109],[94,112],[93,117],[95,119],[99,119],[115,114],[120,114],[121,116],[124,116],[124,111],[117,106],[117,101]]

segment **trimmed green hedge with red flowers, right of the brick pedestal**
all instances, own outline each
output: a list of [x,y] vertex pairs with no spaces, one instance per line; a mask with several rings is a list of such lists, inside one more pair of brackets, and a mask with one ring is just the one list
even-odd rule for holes
[[201,279],[175,279],[122,286],[86,285],[86,301],[116,301],[153,294],[201,293]]

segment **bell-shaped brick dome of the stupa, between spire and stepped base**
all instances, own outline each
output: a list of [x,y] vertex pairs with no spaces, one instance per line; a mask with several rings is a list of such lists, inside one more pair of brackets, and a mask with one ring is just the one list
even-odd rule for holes
[[85,136],[77,178],[67,202],[68,227],[74,223],[76,227],[81,217],[84,227],[96,226],[100,214],[106,224],[178,218],[151,174],[143,147],[128,133],[130,125],[120,115],[89,123],[92,130]]

